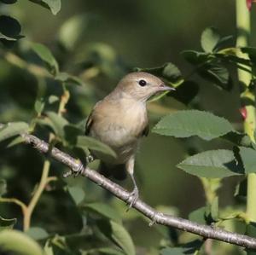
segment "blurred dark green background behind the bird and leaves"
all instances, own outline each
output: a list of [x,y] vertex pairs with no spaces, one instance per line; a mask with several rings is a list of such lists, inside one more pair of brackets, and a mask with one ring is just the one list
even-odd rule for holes
[[[232,0],[62,0],[61,11],[56,15],[23,0],[12,5],[0,4],[0,12],[19,20],[21,34],[25,36],[8,50],[15,52],[20,59],[41,65],[29,45],[30,42],[44,43],[55,55],[61,71],[84,81],[83,86],[69,87],[71,98],[65,117],[71,123],[83,123],[96,101],[113,90],[119,78],[134,67],[157,67],[171,61],[183,76],[188,75],[192,68],[180,52],[184,49],[201,50],[201,32],[207,26],[218,28],[222,35],[236,34],[235,1]],[[256,38],[252,44],[255,41]],[[236,81],[231,93],[227,93],[196,76],[192,79],[200,88],[193,106],[224,116],[239,129],[241,116]],[[29,121],[35,114],[34,101],[38,93],[48,96],[61,94],[60,86],[55,82],[48,80],[47,84],[44,83],[2,55],[0,122]],[[151,128],[167,113],[189,107],[172,96],[149,103]],[[45,131],[40,134],[43,134],[41,138],[46,136]],[[189,150],[196,152],[211,148],[230,148],[230,144],[219,140],[175,139],[149,132],[137,153],[136,176],[142,199],[154,207],[165,206],[165,210],[181,217],[188,217],[189,212],[204,206],[205,197],[199,179],[177,169],[176,165]],[[9,149],[0,147],[0,154],[0,177],[8,182],[8,196],[27,202],[40,177],[44,159],[26,145]],[[61,177],[65,170],[53,162],[50,173]],[[128,228],[137,246],[149,247],[159,243],[160,235],[156,229],[149,231],[148,225],[134,216],[136,212],[126,213],[123,204],[104,194],[101,188],[82,177],[62,182],[83,187],[86,200],[102,198],[121,208],[122,217],[131,219]],[[130,188],[131,183],[121,184]],[[235,203],[235,185],[236,178],[224,180],[220,189],[221,206]],[[0,204],[0,214],[21,217],[19,208],[7,204]],[[49,188],[34,212],[32,224],[44,225],[49,232],[73,233],[81,224],[75,215],[73,205],[67,202],[67,194],[58,188]],[[71,224],[67,226],[68,217]]]

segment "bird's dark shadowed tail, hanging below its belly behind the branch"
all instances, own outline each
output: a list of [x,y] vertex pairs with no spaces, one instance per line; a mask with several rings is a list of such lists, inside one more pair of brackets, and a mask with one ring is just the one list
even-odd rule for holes
[[99,171],[104,177],[113,177],[119,181],[123,181],[127,177],[125,164],[108,165],[101,161]]

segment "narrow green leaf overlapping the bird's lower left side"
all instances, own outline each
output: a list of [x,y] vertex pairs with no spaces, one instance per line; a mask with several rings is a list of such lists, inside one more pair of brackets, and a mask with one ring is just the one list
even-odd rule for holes
[[109,155],[113,158],[116,157],[115,152],[107,144],[96,140],[89,136],[78,136],[76,146],[79,148],[89,148],[93,151],[100,152],[102,154]]

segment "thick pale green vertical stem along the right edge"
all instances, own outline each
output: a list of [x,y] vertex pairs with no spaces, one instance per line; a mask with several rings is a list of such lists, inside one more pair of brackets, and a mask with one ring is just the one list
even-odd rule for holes
[[[247,9],[246,1],[236,0],[236,27],[237,39],[236,47],[246,47],[248,45],[248,36],[251,32],[250,12]],[[241,53],[239,57],[247,58],[247,55]],[[241,101],[251,101],[251,104],[244,106],[247,112],[247,118],[244,121],[244,130],[253,142],[255,130],[255,96],[250,90],[252,75],[248,72],[238,70],[239,81],[246,86],[246,90],[241,93]],[[247,217],[250,221],[256,222],[256,174],[250,173],[247,176]]]

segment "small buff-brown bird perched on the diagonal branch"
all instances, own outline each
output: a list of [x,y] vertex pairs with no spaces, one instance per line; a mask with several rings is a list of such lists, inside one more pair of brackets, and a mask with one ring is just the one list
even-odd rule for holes
[[143,136],[148,136],[148,98],[161,91],[175,90],[148,72],[130,72],[115,89],[93,107],[85,125],[85,136],[107,144],[116,154],[108,159],[99,152],[92,156],[101,159],[100,173],[105,177],[131,177],[133,189],[127,200],[129,208],[139,198],[134,177],[135,155]]

